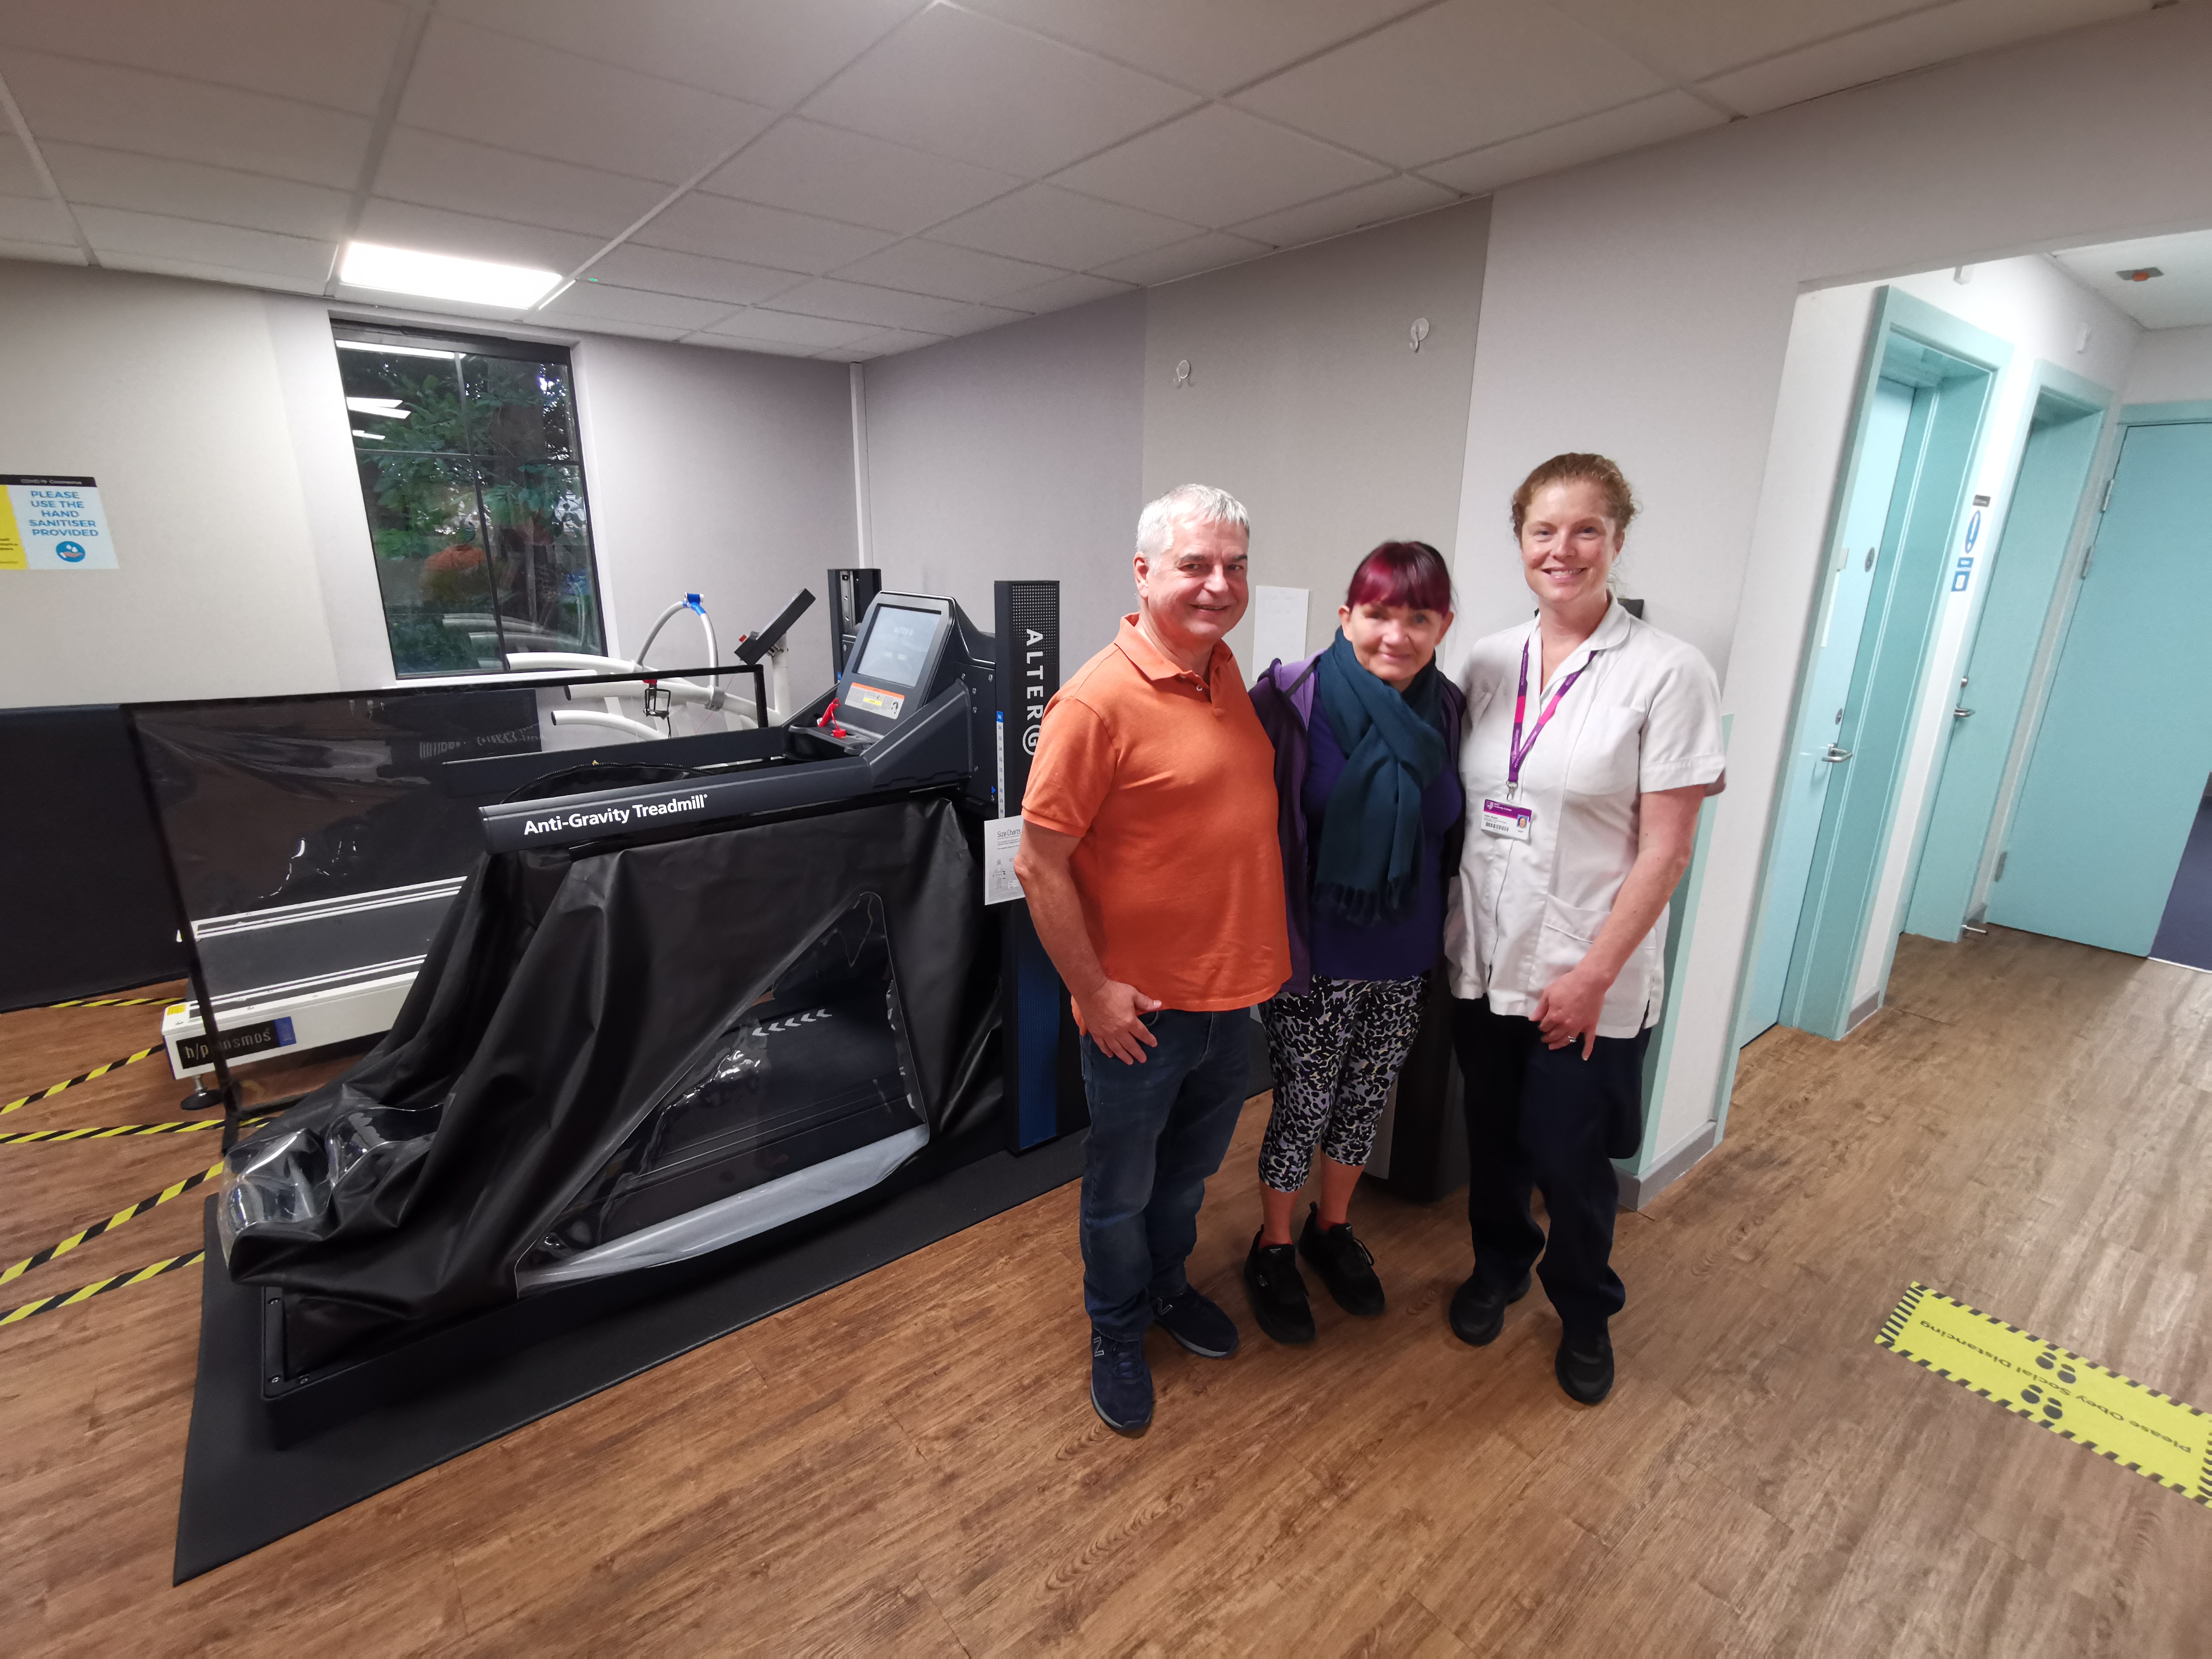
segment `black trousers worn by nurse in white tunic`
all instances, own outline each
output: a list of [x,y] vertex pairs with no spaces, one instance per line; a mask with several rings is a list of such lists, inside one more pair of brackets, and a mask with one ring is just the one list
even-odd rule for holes
[[[1599,1037],[1546,1048],[1535,1020],[1491,1013],[1489,1000],[1451,1000],[1451,1046],[1467,1079],[1467,1225],[1475,1276],[1502,1292],[1542,1254],[1544,1294],[1573,1336],[1597,1336],[1628,1292],[1613,1272],[1613,1217],[1621,1183],[1615,1157],[1630,1157],[1644,1130],[1644,1048],[1635,1037]],[[1544,1192],[1551,1239],[1528,1214]]]

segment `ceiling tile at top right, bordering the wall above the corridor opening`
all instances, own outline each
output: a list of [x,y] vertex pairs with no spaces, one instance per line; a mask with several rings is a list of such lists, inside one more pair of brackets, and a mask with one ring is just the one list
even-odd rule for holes
[[1960,0],[1714,75],[1703,86],[1728,106],[1759,115],[1971,51],[2141,9],[2141,0]]

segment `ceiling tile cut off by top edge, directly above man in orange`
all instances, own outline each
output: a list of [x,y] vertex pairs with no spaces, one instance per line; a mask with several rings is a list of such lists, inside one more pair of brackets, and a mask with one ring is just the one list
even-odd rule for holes
[[1422,0],[969,0],[1040,33],[1088,46],[1177,86],[1225,93],[1294,64]]

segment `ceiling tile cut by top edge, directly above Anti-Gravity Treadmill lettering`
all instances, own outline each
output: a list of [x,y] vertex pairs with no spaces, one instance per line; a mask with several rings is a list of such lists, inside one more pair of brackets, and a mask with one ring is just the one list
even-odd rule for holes
[[922,0],[442,0],[440,15],[787,108]]

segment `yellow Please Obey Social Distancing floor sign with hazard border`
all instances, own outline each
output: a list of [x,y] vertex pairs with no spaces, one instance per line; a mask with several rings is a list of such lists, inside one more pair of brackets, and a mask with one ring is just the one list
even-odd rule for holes
[[2194,1405],[1920,1283],[1874,1340],[2212,1509],[2212,1413]]

